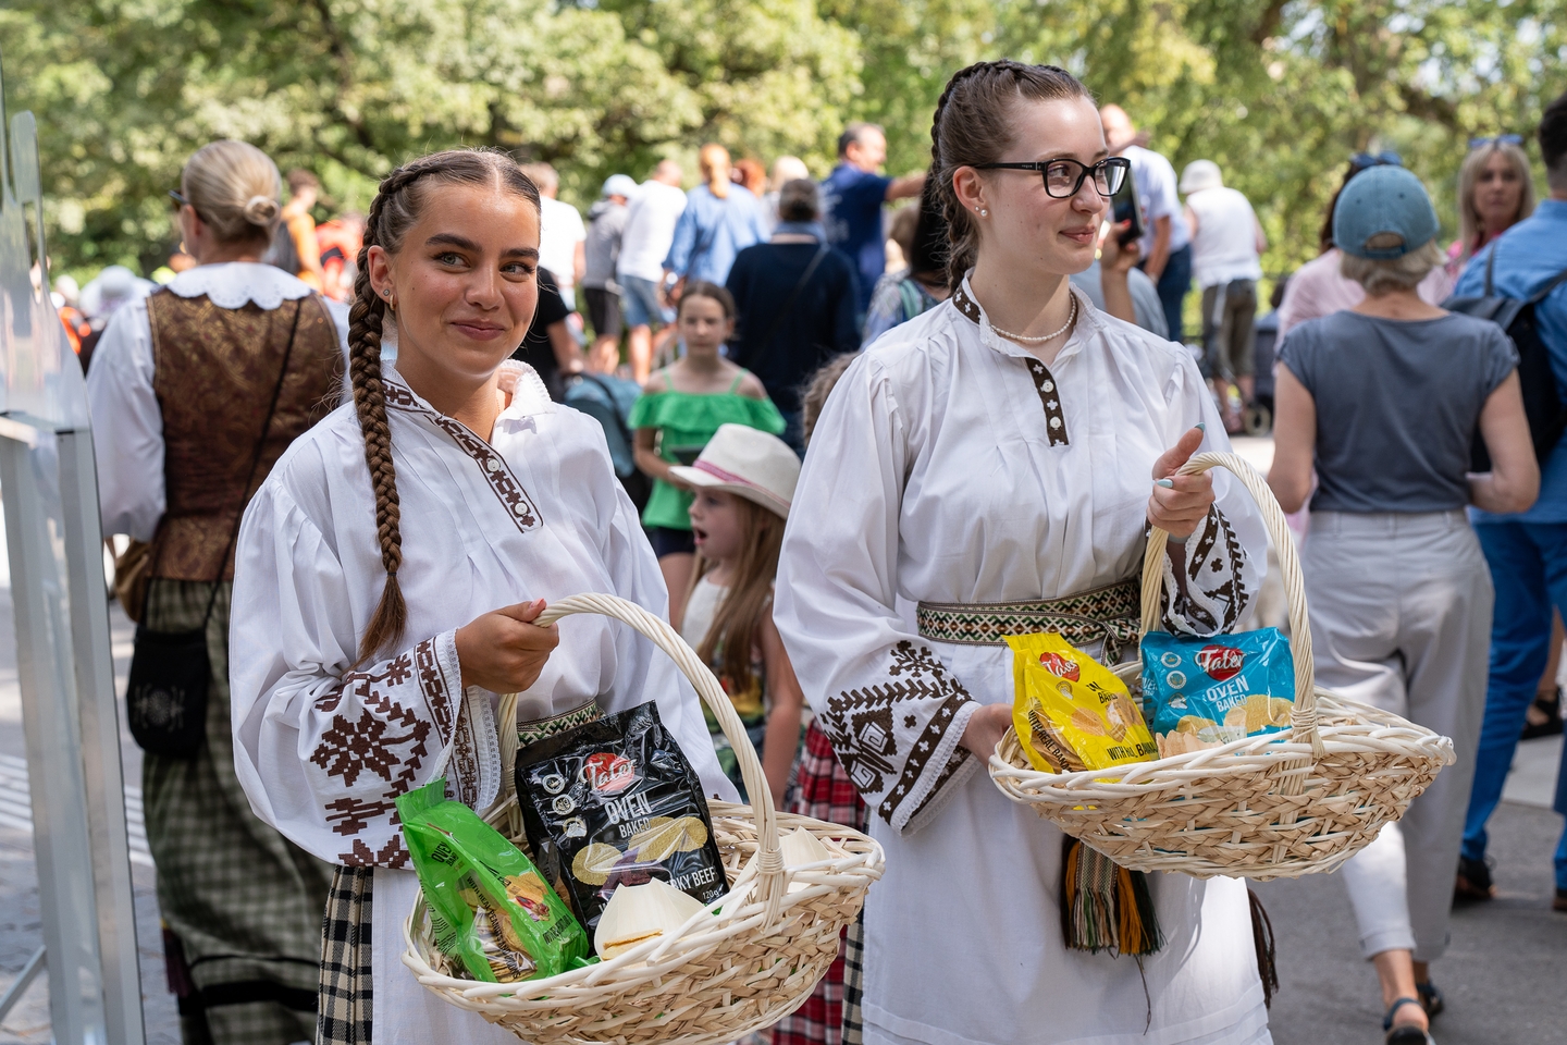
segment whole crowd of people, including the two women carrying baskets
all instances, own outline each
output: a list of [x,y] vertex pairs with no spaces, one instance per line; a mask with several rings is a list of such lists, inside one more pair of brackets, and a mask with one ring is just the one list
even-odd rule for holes
[[[1520,136],[1476,139],[1446,251],[1399,157],[1354,155],[1265,316],[1246,196],[1208,160],[1177,179],[1067,72],[970,66],[932,138],[928,172],[890,177],[882,128],[852,124],[821,182],[710,143],[689,188],[675,160],[614,174],[586,219],[550,165],[448,150],[321,224],[313,174],[218,141],[171,193],[155,280],[56,282],[105,533],[133,541],[136,656],[196,635],[210,666],[174,716],[194,732],[138,733],[186,1045],[500,1040],[400,964],[417,880],[392,799],[442,747],[483,810],[497,730],[652,697],[704,790],[744,799],[650,644],[533,624],[578,592],[668,616],[773,801],[887,851],[776,1045],[1012,1045],[1042,1040],[1039,1012],[1059,1042],[1268,1042],[1241,880],[1152,876],[1155,953],[1072,948],[1062,837],[983,769],[1011,652],[948,627],[1070,619],[1100,652],[1156,525],[1164,627],[1238,628],[1258,509],[1178,470],[1260,400],[1318,677],[1459,754],[1343,873],[1387,1040],[1431,1040],[1431,964],[1454,898],[1493,895],[1514,747],[1561,729],[1567,96],[1537,132],[1550,197]],[[495,722],[501,692],[519,722]],[[1556,885],[1567,912],[1567,833]],[[932,954],[967,976],[932,987]]]

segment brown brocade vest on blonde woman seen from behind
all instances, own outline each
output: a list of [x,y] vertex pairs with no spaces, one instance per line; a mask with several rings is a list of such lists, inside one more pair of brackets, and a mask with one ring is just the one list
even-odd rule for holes
[[[251,472],[255,443],[288,348],[288,376]],[[251,494],[295,439],[337,406],[343,349],[337,324],[317,295],[276,309],[246,302],[221,309],[205,295],[161,290],[147,298],[152,389],[163,412],[163,481],[168,506],[154,537],[154,577],[182,581],[233,578],[233,553],[219,562]]]

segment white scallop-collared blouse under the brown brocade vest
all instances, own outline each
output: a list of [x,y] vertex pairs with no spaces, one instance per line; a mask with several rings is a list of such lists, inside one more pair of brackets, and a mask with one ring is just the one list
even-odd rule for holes
[[[273,265],[224,262],[197,265],[169,282],[180,298],[207,298],[219,309],[255,302],[271,312],[298,301],[310,285]],[[348,351],[348,309],[323,298]],[[99,470],[103,533],[152,541],[166,506],[163,486],[163,410],[152,387],[152,324],[147,299],[122,306],[103,331],[88,371],[88,409]]]

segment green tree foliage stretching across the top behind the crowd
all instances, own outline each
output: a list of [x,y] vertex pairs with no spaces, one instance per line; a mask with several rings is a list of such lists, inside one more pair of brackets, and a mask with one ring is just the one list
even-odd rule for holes
[[1216,160],[1263,218],[1269,271],[1316,252],[1357,149],[1396,149],[1456,229],[1471,135],[1529,135],[1567,89],[1567,0],[11,0],[6,102],[39,116],[53,254],[146,271],[166,191],[218,136],[364,207],[450,144],[544,158],[586,202],[716,139],[821,174],[838,130],[929,158],[946,78],[1009,55],[1073,71],[1182,168]]

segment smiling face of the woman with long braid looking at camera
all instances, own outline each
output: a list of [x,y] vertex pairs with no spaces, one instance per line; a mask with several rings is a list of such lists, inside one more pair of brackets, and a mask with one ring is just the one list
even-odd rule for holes
[[396,254],[370,248],[370,285],[395,302],[411,384],[490,379],[539,302],[539,210],[501,185],[431,182]]

